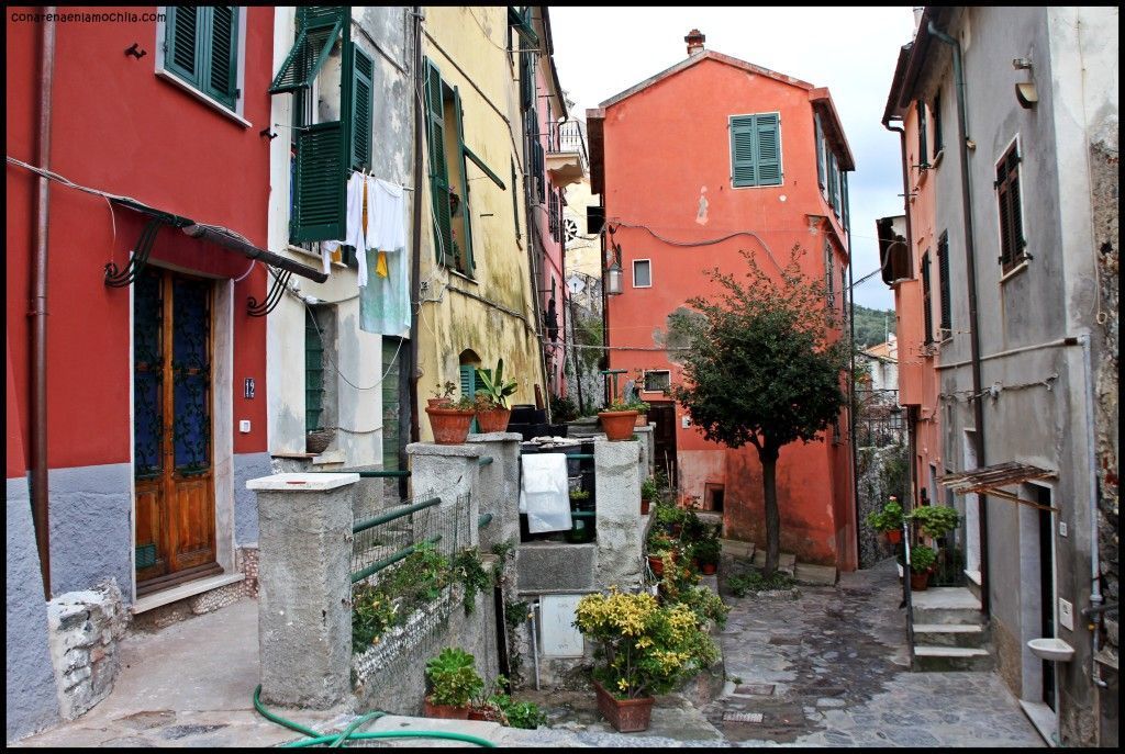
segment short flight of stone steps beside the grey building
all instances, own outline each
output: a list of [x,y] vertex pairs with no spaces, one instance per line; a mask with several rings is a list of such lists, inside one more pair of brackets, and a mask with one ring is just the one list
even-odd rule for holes
[[911,594],[916,671],[992,670],[980,598],[961,587],[932,587]]

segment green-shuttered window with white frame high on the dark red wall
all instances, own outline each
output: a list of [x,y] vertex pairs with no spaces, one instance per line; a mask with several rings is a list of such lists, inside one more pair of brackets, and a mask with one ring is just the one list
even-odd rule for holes
[[235,6],[168,6],[156,71],[238,115],[242,110],[240,40],[245,9]]

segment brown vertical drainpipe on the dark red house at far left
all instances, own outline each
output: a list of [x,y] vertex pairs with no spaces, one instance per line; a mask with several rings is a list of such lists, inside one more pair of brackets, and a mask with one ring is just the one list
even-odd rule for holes
[[[51,18],[54,6],[44,6]],[[43,25],[39,57],[39,167],[51,167],[51,89],[54,83],[55,22]],[[47,515],[47,229],[51,215],[51,183],[39,176],[35,203],[35,256],[32,264],[32,516],[39,548],[43,593],[51,599],[51,538]]]

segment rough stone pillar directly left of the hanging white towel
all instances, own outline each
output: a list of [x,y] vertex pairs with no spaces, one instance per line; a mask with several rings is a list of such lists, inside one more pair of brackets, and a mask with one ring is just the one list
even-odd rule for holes
[[480,549],[490,552],[502,542],[520,543],[520,433],[469,435],[469,444],[479,446],[480,458],[492,463],[480,466],[478,508],[493,520],[480,529]]

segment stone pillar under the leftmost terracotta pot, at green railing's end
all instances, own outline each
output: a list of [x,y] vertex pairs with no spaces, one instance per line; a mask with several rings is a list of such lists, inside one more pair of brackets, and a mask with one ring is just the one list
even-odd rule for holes
[[[487,437],[488,435],[483,435]],[[406,446],[411,458],[411,489],[415,500],[430,497],[441,498],[440,511],[448,515],[456,509],[457,498],[469,496],[468,510],[457,523],[457,542],[449,547],[472,547],[479,544],[477,518],[480,510],[480,464],[482,455],[488,455],[479,443],[462,445],[436,445],[434,443],[411,443]],[[440,543],[438,548],[446,551]]]

